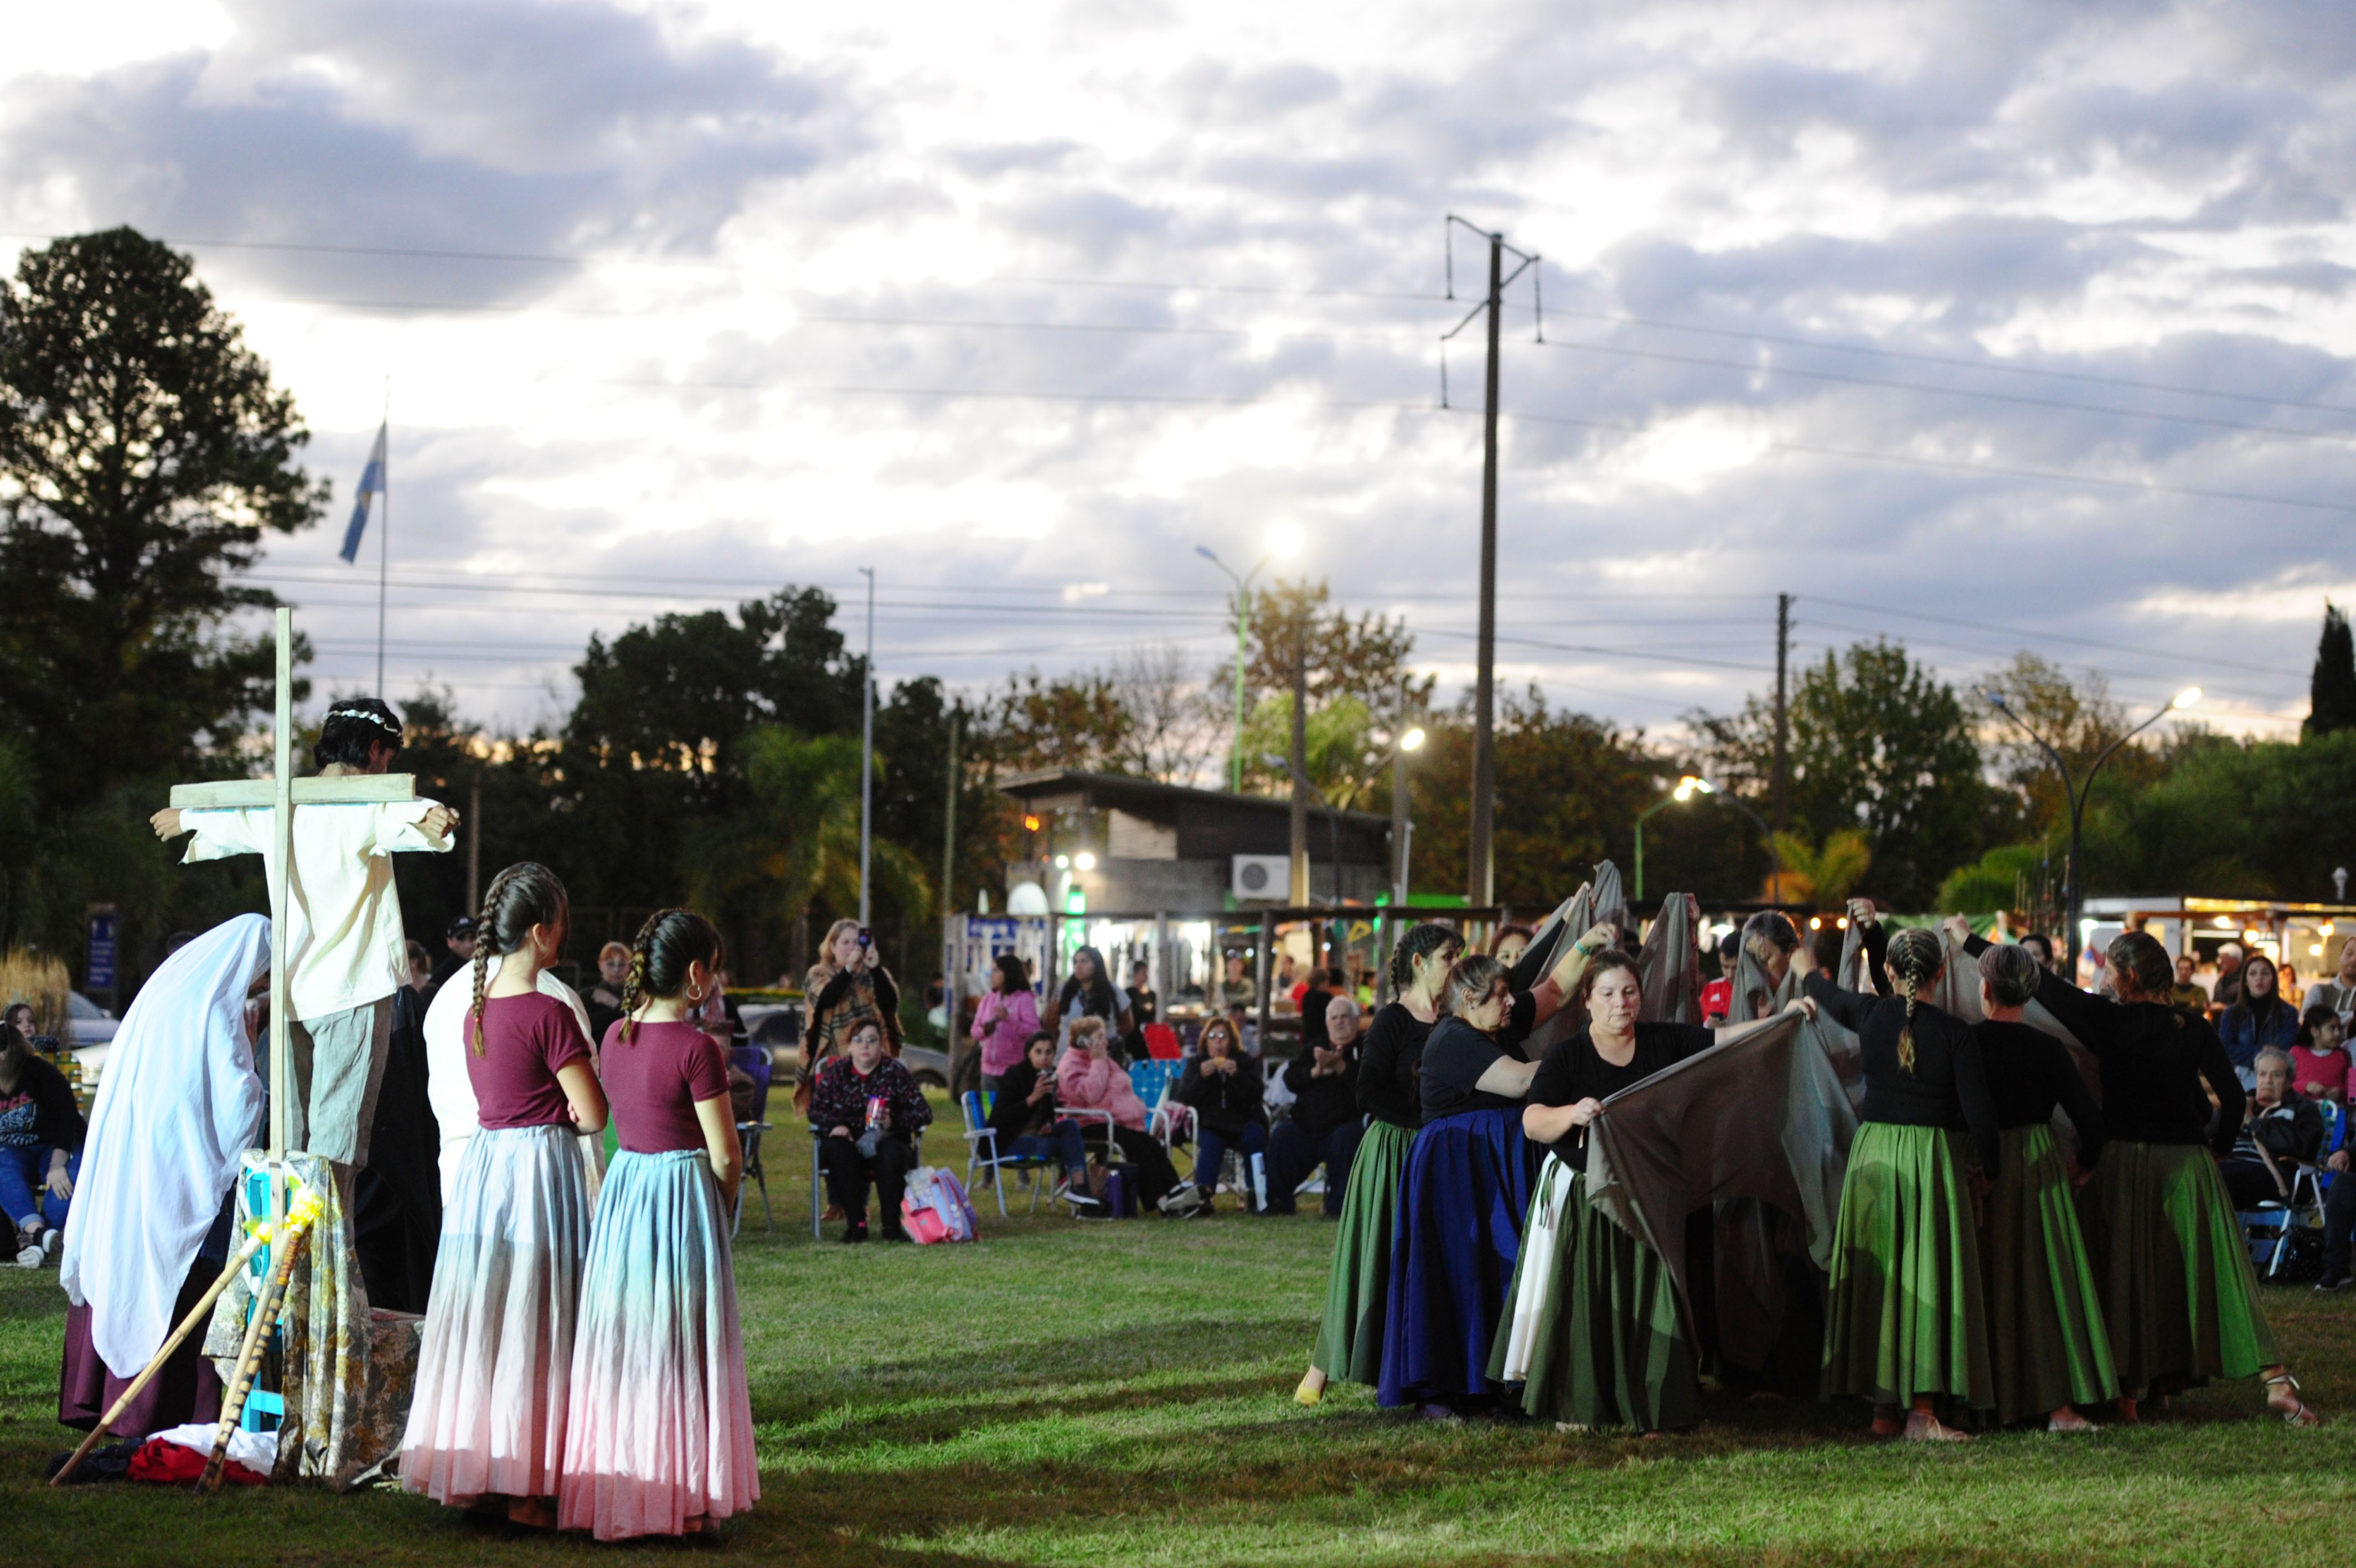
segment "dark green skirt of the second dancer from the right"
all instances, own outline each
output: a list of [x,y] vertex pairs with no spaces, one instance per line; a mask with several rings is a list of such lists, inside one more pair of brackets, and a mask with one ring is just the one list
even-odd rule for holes
[[2052,1127],[2007,1127],[1979,1233],[1996,1419],[2118,1398],[2094,1269]]

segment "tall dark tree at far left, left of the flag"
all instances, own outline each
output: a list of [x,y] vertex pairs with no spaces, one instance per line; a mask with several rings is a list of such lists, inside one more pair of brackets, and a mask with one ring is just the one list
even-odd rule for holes
[[233,580],[318,521],[309,441],[188,257],[132,229],[24,252],[0,285],[0,705],[42,797],[188,766],[271,700]]

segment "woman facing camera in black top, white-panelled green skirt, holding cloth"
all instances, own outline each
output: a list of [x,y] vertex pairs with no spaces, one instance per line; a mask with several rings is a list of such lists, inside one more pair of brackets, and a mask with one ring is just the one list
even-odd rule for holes
[[[1621,950],[1600,953],[1579,990],[1588,1028],[1546,1054],[1522,1108],[1524,1137],[1548,1153],[1489,1377],[1522,1384],[1522,1410],[1562,1429],[1677,1431],[1701,1398],[1677,1292],[1661,1254],[1588,1203],[1588,1125],[1621,1089],[1774,1016],[1722,1033],[1640,1023],[1644,974]],[[1814,1016],[1816,1004],[1795,997],[1783,1012]]]

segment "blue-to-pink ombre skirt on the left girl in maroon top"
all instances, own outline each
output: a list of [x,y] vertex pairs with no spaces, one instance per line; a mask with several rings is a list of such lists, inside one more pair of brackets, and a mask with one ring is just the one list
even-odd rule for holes
[[554,1497],[589,1193],[570,1127],[488,1127],[443,1210],[401,1485],[434,1502]]

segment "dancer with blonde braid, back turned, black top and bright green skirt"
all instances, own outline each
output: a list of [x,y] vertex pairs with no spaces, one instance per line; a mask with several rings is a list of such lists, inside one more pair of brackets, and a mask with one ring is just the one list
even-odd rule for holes
[[1887,936],[1868,920],[1864,936],[1875,983],[1887,953],[1894,997],[1842,990],[1809,967],[1807,943],[1795,960],[1816,1007],[1857,1030],[1866,1073],[1833,1228],[1824,1396],[1873,1401],[1875,1436],[1965,1443],[1970,1434],[1944,1424],[1937,1403],[1996,1408],[1979,1224],[1965,1186],[1974,1148],[1981,1170],[2000,1165],[1996,1101],[1970,1026],[1920,1000],[1946,971],[1939,934]]

